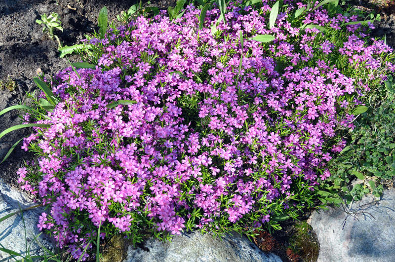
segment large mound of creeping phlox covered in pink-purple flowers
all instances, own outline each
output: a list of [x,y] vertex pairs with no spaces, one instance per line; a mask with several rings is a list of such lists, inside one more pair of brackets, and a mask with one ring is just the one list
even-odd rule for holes
[[85,40],[97,66],[44,79],[56,106],[24,117],[49,125],[24,139],[39,158],[19,170],[49,207],[40,229],[79,258],[99,225],[103,238],[134,242],[195,228],[251,233],[315,206],[325,164],[345,146],[338,131],[354,127],[367,83],[395,67],[383,41],[344,25],[357,15],[320,7],[291,21],[306,5],[288,3],[272,28],[263,0],[256,10],[230,3],[226,24],[207,10],[201,30],[189,5],[172,21],[161,11]]

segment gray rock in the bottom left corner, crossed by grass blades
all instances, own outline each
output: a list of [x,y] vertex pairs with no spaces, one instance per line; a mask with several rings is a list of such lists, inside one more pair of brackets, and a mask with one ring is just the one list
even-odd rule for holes
[[[0,218],[19,210],[19,205],[22,209],[37,205],[27,194],[19,192],[9,186],[0,179]],[[31,256],[43,255],[44,250],[40,247],[44,246],[49,250],[54,250],[51,241],[41,234],[37,241],[33,241],[40,231],[37,228],[40,214],[43,212],[43,207],[31,209],[23,212],[23,219],[26,226],[26,241],[27,246],[30,246]],[[26,256],[25,244],[25,228],[22,221],[21,214],[16,214],[2,222],[0,222],[0,243],[6,249],[15,251],[22,256]],[[40,245],[38,244],[40,243]],[[22,259],[16,257],[16,259]],[[0,262],[15,261],[7,253],[0,251]]]

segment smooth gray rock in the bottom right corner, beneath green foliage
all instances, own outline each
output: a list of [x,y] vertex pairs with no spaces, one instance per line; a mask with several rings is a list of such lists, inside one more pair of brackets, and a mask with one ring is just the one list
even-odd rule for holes
[[[395,190],[376,203],[369,195],[343,211],[314,212],[311,225],[320,244],[318,262],[395,261]],[[343,228],[344,225],[344,228]]]

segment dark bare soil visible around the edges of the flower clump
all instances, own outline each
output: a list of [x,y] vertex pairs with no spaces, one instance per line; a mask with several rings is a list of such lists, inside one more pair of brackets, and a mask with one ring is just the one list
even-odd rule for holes
[[[117,14],[127,10],[137,0],[0,0],[0,81],[9,77],[15,81],[14,90],[1,90],[0,111],[28,102],[25,97],[28,92],[36,89],[33,77],[39,73],[53,75],[68,66],[65,58],[59,58],[57,42],[42,33],[42,26],[37,24],[43,13],[56,12],[60,15],[63,32],[55,31],[63,45],[79,43],[85,34],[98,30],[97,15],[106,5],[109,20],[118,22]],[[395,7],[381,4],[386,0],[351,0],[356,7],[365,10],[375,10],[382,15],[381,22],[375,22],[376,29],[373,36],[384,37],[387,44],[395,47]],[[390,0],[389,2],[391,2]],[[381,5],[380,5],[381,4]],[[150,6],[167,9],[174,6],[175,0],[151,0]],[[77,57],[70,57],[77,60]],[[0,116],[0,132],[11,126],[19,124],[18,112],[7,112]],[[0,161],[9,148],[19,139],[30,134],[29,129],[20,129],[0,139]],[[32,153],[20,149],[18,145],[10,157],[0,164],[0,179],[11,187],[20,188],[16,171],[23,165],[24,160],[33,158]],[[282,223],[283,229],[275,232],[271,238],[264,232],[257,238],[258,245],[263,242],[273,244],[271,250],[284,261],[298,261],[298,255],[288,250],[290,234],[294,231],[294,222]],[[265,240],[266,237],[266,240]],[[259,243],[260,244],[259,244]],[[262,245],[261,245],[262,246]],[[267,247],[268,248],[268,247]],[[268,251],[268,250],[267,250]]]

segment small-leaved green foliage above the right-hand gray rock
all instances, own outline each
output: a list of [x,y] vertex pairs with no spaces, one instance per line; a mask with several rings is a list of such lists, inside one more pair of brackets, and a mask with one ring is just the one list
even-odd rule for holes
[[[350,203],[365,194],[379,197],[383,182],[395,177],[395,83],[392,76],[383,86],[382,100],[371,101],[372,108],[359,106],[356,127],[347,134],[348,145],[331,163],[331,179]],[[366,98],[372,100],[373,97]],[[366,111],[367,110],[367,111]],[[353,178],[356,184],[350,186]]]

